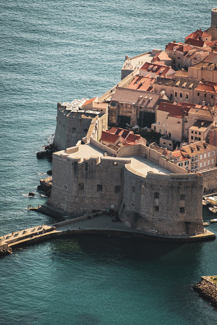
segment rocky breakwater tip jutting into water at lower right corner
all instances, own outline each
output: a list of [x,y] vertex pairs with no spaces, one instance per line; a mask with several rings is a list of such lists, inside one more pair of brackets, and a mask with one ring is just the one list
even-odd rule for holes
[[201,277],[193,289],[198,292],[198,296],[208,301],[214,310],[217,310],[217,276]]

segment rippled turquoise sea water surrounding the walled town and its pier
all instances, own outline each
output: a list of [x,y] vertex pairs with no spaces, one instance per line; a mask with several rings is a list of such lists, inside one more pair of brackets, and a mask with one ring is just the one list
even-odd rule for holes
[[[205,29],[215,6],[1,2],[0,234],[53,221],[26,207],[47,199],[37,185],[51,163],[36,152],[51,141],[57,102],[102,95],[120,80],[126,54]],[[213,214],[205,207],[203,217]],[[214,325],[216,312],[191,287],[217,274],[216,248],[83,236],[16,250],[0,259],[0,324]]]

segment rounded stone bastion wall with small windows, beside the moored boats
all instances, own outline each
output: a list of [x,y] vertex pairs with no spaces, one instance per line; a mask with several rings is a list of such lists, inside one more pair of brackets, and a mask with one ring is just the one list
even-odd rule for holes
[[[148,173],[145,178],[126,165],[120,219],[128,226],[151,233],[203,233],[202,189],[202,176]],[[159,198],[155,193],[159,193]],[[184,200],[180,200],[181,194],[185,195]],[[183,213],[180,208],[184,208]]]

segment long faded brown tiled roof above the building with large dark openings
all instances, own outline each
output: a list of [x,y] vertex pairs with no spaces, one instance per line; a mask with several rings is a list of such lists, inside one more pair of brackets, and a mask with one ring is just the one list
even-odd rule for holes
[[117,87],[112,100],[128,104],[135,103],[139,106],[154,107],[156,105],[156,101],[160,97],[161,95],[158,93],[150,93],[143,90]]

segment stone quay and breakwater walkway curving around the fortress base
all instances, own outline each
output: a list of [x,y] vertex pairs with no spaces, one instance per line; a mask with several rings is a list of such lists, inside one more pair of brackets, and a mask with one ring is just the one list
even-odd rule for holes
[[[36,209],[36,208],[34,208]],[[121,221],[114,219],[111,214],[106,214],[105,211],[100,211],[94,214],[86,214],[73,219],[66,219],[64,221],[54,223],[52,225],[40,225],[24,230],[9,233],[1,236],[0,251],[8,248],[22,247],[31,245],[40,241],[56,238],[65,235],[74,234],[104,234],[116,236],[131,236],[139,237],[148,240],[159,241],[177,241],[190,242],[201,240],[213,240],[215,234],[207,229],[203,234],[194,236],[172,236],[170,234],[155,234],[155,232],[147,233],[142,230],[133,229]]]

